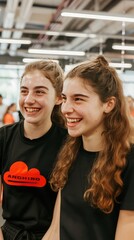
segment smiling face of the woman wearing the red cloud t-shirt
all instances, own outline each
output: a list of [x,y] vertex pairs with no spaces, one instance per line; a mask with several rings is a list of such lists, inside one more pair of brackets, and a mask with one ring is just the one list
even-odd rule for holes
[[24,75],[20,85],[19,105],[25,124],[50,126],[55,104],[58,104],[58,97],[49,79],[38,70]]

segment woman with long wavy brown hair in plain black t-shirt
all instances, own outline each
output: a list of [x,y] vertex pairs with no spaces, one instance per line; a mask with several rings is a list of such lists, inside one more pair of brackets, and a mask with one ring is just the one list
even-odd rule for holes
[[61,240],[134,239],[134,145],[122,81],[103,56],[65,77],[69,138],[51,176]]

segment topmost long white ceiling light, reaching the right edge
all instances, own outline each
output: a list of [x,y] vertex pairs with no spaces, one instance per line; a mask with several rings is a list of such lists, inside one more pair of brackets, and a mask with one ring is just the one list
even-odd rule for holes
[[85,18],[85,19],[97,19],[97,20],[110,20],[110,21],[119,21],[119,22],[134,22],[134,16],[132,15],[121,15],[113,14],[110,12],[97,12],[97,11],[86,11],[86,10],[70,10],[64,9],[61,12],[63,17],[72,17],[72,18]]

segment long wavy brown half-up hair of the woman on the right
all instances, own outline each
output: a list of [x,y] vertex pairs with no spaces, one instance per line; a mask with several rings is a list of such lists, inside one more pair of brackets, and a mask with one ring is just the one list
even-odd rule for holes
[[[104,117],[105,146],[88,175],[89,186],[84,193],[86,201],[109,213],[123,187],[121,175],[126,165],[126,154],[131,145],[131,126],[122,81],[103,56],[81,63],[71,70],[66,78],[79,78],[86,81],[94,88],[103,103],[112,96],[116,98],[114,109]],[[66,184],[69,168],[79,150],[80,139],[80,137],[69,137],[59,153],[50,181],[54,190],[63,188]]]

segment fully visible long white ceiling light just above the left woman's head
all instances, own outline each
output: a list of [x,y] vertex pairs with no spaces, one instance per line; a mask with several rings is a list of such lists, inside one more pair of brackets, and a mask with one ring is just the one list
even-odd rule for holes
[[48,54],[48,55],[85,56],[85,52],[83,51],[65,51],[65,50],[55,50],[55,49],[29,48],[28,52],[36,53],[36,54]]

